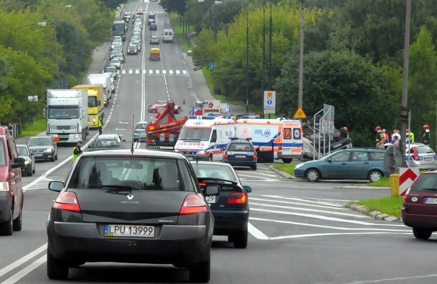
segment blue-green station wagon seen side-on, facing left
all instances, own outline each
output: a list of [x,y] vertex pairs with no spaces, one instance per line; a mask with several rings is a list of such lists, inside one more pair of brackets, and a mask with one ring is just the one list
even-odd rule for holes
[[303,162],[294,168],[294,176],[308,181],[320,179],[362,179],[378,181],[390,173],[384,167],[384,149],[348,148],[320,160]]

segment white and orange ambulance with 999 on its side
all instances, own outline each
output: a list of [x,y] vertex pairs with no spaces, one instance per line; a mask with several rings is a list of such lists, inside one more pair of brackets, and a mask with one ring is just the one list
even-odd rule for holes
[[303,132],[299,120],[242,116],[235,121],[235,137],[251,138],[255,149],[273,149],[274,159],[284,163],[302,158]]

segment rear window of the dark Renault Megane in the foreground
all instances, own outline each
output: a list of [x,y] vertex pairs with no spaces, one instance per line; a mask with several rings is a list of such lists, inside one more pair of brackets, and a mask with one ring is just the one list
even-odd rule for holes
[[[83,157],[69,188],[192,191],[182,160],[155,157]],[[183,178],[182,178],[183,177]]]

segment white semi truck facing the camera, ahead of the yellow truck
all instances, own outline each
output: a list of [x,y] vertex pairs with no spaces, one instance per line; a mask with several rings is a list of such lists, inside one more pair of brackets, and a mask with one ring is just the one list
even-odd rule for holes
[[47,135],[57,143],[77,143],[88,135],[88,91],[47,90]]

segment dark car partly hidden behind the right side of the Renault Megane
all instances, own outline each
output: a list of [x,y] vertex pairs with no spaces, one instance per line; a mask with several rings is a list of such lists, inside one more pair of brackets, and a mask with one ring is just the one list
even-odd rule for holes
[[207,197],[214,216],[214,235],[228,236],[234,248],[247,247],[249,200],[252,188],[242,185],[231,165],[220,162],[191,161],[202,188],[220,186],[220,194]]

